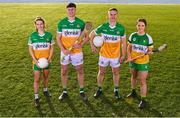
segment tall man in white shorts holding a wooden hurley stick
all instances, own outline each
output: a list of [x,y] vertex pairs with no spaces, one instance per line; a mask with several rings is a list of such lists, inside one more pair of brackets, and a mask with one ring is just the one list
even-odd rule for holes
[[[63,92],[59,96],[59,100],[63,100],[68,96],[68,65],[71,63],[75,66],[77,72],[80,96],[86,101],[82,46],[88,41],[88,35],[85,33],[85,39],[81,43],[75,43],[84,30],[85,23],[81,19],[75,17],[76,5],[74,3],[69,3],[66,9],[68,17],[61,20],[57,28],[57,44],[61,49],[61,82],[63,86]],[[69,50],[70,47],[73,47],[72,50]]]

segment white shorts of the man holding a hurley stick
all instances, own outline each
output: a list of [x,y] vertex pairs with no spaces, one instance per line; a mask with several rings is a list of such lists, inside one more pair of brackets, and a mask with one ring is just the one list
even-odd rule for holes
[[68,65],[71,63],[73,66],[78,66],[83,64],[83,53],[64,55],[61,51],[60,59],[60,63],[62,65]]

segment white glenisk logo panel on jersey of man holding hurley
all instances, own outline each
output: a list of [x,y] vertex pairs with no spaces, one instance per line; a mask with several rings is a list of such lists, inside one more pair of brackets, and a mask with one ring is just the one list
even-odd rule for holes
[[81,33],[80,29],[63,29],[62,35],[66,37],[77,37]]

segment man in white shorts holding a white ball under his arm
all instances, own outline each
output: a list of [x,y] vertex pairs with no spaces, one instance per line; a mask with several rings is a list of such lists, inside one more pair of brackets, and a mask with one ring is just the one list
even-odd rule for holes
[[[92,40],[96,35],[104,39],[104,43],[99,52],[99,72],[97,75],[98,89],[94,94],[97,98],[102,94],[102,82],[107,66],[111,66],[114,82],[114,96],[116,99],[121,98],[119,94],[119,67],[125,59],[126,54],[126,35],[123,25],[117,22],[118,10],[111,8],[108,11],[109,22],[104,23],[93,30],[90,34],[91,49],[94,53],[98,50],[93,45]],[[122,52],[121,52],[122,49]]]

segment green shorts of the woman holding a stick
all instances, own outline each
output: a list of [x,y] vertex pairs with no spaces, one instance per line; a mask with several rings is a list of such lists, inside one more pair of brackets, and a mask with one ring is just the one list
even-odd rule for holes
[[139,71],[148,71],[149,68],[150,68],[149,63],[146,63],[146,64],[136,64],[136,63],[130,62],[129,66],[131,68],[139,70]]

